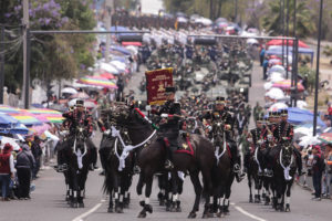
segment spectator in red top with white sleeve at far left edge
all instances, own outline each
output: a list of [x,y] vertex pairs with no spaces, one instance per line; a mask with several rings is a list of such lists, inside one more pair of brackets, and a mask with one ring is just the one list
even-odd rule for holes
[[14,176],[12,146],[6,144],[0,154],[0,181],[2,182],[2,201],[9,201],[9,183]]

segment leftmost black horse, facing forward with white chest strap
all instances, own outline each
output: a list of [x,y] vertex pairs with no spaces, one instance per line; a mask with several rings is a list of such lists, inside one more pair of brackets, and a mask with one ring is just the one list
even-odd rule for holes
[[84,128],[76,127],[75,134],[64,141],[68,170],[64,172],[69,185],[69,203],[72,208],[84,208],[85,182],[91,165],[91,150],[86,146]]

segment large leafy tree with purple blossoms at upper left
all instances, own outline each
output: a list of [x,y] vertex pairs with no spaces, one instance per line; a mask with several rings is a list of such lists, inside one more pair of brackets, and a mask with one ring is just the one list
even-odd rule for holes
[[[3,3],[4,2],[4,3]],[[1,0],[0,20],[20,24],[22,2]],[[92,0],[35,0],[30,1],[31,30],[92,30],[95,27]],[[2,8],[3,7],[3,8]],[[2,22],[4,23],[4,22]],[[22,39],[21,30],[14,34]],[[9,40],[7,36],[6,40]],[[50,82],[74,77],[94,63],[91,34],[35,34],[31,38],[31,80]],[[6,56],[6,85],[13,92],[22,85],[22,45]]]

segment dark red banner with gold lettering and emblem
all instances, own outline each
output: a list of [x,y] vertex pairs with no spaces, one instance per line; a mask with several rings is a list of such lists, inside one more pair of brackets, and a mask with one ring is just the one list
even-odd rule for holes
[[173,69],[145,72],[147,103],[162,105],[165,103],[165,88],[173,85]]

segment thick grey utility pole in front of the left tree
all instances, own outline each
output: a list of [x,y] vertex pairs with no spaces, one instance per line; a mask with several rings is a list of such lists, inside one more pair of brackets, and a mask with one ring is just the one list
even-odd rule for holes
[[29,0],[23,0],[23,90],[22,97],[24,108],[29,108],[30,91],[30,27],[29,27]]

